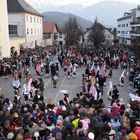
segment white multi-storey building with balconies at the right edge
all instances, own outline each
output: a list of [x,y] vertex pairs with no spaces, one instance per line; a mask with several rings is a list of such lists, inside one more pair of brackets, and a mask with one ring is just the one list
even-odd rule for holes
[[125,12],[123,17],[117,20],[117,37],[121,43],[131,44],[140,37],[140,8]]

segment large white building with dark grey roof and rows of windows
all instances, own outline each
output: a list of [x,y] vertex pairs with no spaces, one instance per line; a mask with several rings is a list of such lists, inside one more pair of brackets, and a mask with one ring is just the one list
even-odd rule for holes
[[10,46],[34,48],[43,40],[42,15],[24,0],[7,0]]

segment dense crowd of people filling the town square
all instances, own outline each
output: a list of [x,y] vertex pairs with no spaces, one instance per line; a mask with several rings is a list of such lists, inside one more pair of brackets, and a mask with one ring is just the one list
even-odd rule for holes
[[[58,61],[53,62],[56,52]],[[10,101],[0,94],[0,140],[140,140],[140,102],[125,103],[118,90],[131,65],[123,49],[93,54],[88,50],[29,49],[0,64],[1,76],[7,79],[8,74],[13,75],[15,96]],[[37,79],[29,67],[34,67]],[[56,88],[60,68],[68,79],[75,79],[79,67],[85,67],[82,91],[71,100],[65,94],[58,104],[51,99],[46,102],[41,75],[50,76]],[[122,73],[118,85],[113,85],[113,70],[118,68]],[[105,86],[110,107],[102,98]]]

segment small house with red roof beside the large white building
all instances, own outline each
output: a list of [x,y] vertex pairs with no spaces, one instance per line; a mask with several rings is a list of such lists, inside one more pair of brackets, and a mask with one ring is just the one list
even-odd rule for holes
[[45,22],[43,24],[43,44],[44,46],[58,45],[58,27],[55,23]]

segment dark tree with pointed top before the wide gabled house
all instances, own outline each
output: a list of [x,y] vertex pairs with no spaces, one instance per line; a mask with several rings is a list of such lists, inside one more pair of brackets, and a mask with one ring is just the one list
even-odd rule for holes
[[105,41],[104,26],[98,23],[97,19],[90,29],[88,38],[93,42],[95,47],[99,47],[99,45]]

